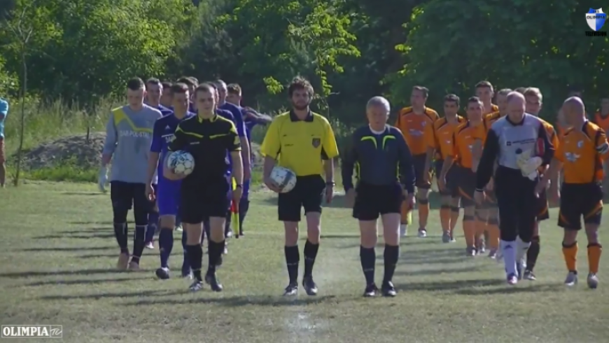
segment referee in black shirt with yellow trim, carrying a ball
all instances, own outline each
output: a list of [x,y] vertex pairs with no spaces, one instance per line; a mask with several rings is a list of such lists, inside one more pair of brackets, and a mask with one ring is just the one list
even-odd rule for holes
[[225,174],[232,158],[232,177],[237,188],[232,191],[235,202],[241,199],[243,184],[243,161],[241,143],[235,124],[216,114],[216,90],[210,85],[199,85],[195,90],[197,116],[184,120],[176,129],[175,139],[169,151],[188,151],[195,158],[195,169],[188,176],[176,174],[167,167],[163,171],[167,179],[183,179],[181,185],[180,214],[186,231],[186,253],[195,281],[190,290],[203,288],[201,265],[203,249],[201,236],[203,220],[209,218],[209,265],[205,282],[211,290],[220,292],[221,283],[216,278],[216,266],[224,251],[224,225],[229,206],[230,183]]

